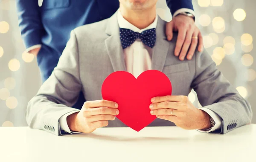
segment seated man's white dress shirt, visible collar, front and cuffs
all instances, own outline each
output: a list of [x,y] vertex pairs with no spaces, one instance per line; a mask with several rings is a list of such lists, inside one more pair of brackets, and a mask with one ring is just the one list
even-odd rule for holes
[[[130,29],[134,32],[143,32],[147,29],[152,29],[157,27],[157,19],[158,16],[156,15],[156,18],[153,23],[151,23],[148,27],[145,29],[139,29],[136,26],[129,23],[125,18],[122,16],[121,12],[118,10],[117,13],[117,21],[120,28]],[[135,40],[131,46],[128,46],[123,50],[124,58],[125,58],[125,66],[127,69],[127,72],[130,72],[134,75],[135,78],[137,78],[142,72],[151,69],[151,57],[153,53],[153,49],[146,46],[140,39]],[[209,114],[209,116],[212,117],[212,119],[215,121],[215,126],[212,127],[212,129],[208,131],[204,130],[198,130],[201,132],[212,132],[216,129],[221,128],[221,118],[214,113],[212,110],[209,110],[207,108],[201,108],[201,110],[204,110],[206,113]],[[79,132],[71,132],[68,125],[67,125],[67,116],[79,112],[72,111],[70,113],[65,114],[64,116],[61,116],[59,119],[61,130],[64,130],[67,133],[79,133]]]

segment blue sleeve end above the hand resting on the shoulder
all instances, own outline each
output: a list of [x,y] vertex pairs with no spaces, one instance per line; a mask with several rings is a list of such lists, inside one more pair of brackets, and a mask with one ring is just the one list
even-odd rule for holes
[[194,11],[192,0],[166,0],[166,3],[169,9],[171,10],[172,15],[178,9],[182,8],[192,9]]

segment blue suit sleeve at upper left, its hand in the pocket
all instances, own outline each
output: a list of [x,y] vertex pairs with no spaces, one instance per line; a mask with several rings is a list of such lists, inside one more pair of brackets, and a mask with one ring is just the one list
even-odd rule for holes
[[18,23],[26,48],[41,44],[41,9],[38,0],[16,0]]

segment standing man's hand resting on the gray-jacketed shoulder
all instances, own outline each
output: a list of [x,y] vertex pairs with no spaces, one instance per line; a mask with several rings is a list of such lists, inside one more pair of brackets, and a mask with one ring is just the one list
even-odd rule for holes
[[174,54],[175,56],[179,56],[181,61],[184,60],[187,53],[187,59],[192,59],[198,43],[198,51],[203,51],[203,38],[192,17],[177,15],[172,19],[172,21],[166,24],[166,35],[169,41],[172,40],[174,31],[178,31]]

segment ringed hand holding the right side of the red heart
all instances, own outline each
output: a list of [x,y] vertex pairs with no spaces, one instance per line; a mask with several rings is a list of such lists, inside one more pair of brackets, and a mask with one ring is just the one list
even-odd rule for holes
[[149,108],[152,115],[174,122],[178,127],[188,130],[212,127],[210,116],[194,107],[187,96],[154,97],[151,98],[151,102]]

